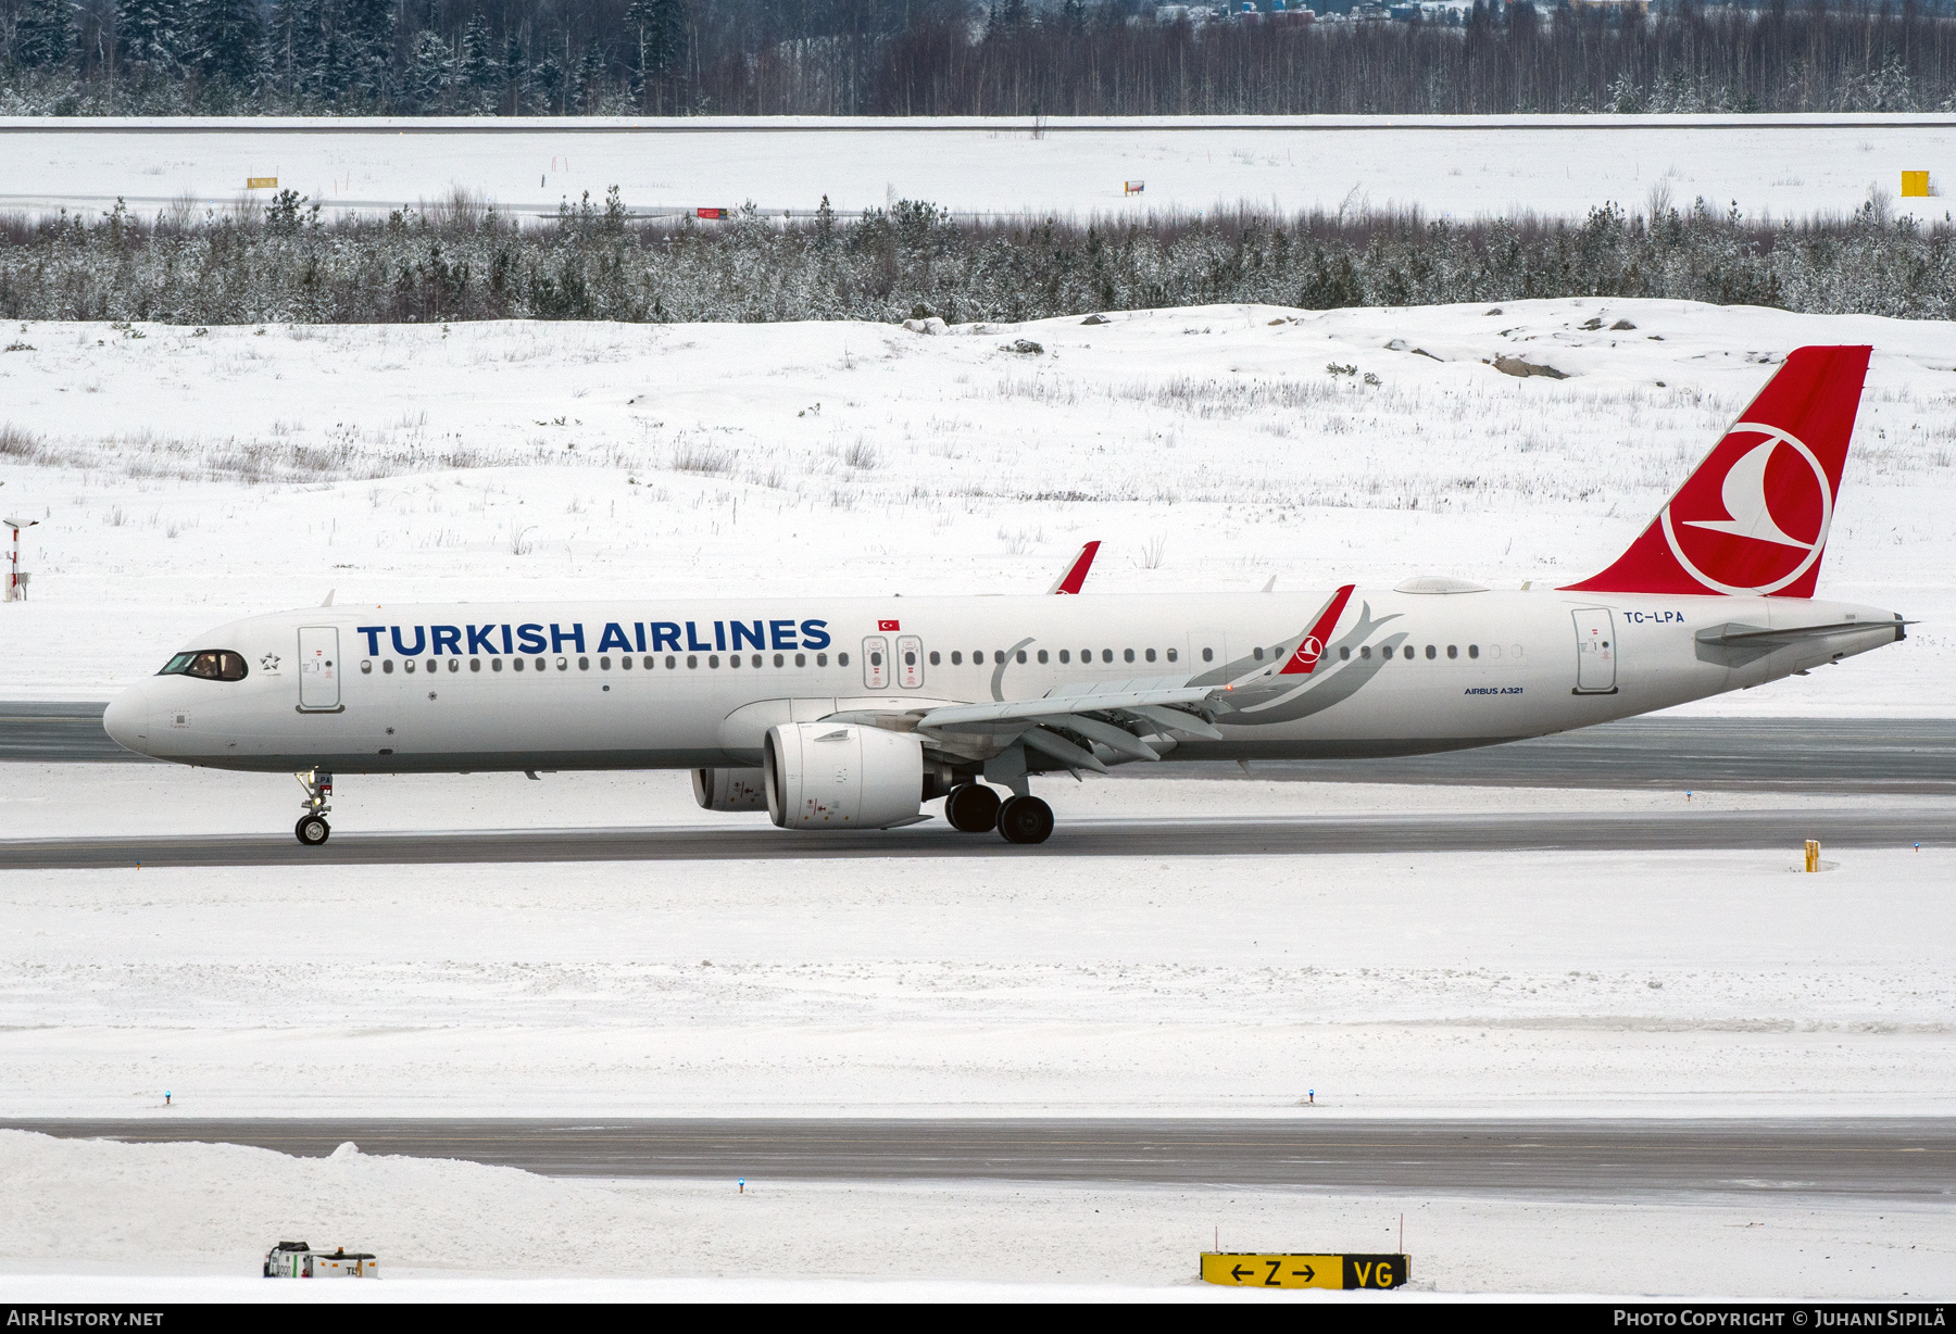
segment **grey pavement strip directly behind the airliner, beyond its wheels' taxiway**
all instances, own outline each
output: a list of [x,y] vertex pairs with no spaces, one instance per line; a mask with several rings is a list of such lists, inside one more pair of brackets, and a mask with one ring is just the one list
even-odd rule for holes
[[[0,700],[0,761],[155,763],[102,732],[100,702]],[[1412,759],[1129,765],[1121,778],[1453,782],[1553,788],[1956,794],[1956,718],[1631,718]]]

